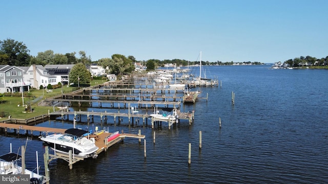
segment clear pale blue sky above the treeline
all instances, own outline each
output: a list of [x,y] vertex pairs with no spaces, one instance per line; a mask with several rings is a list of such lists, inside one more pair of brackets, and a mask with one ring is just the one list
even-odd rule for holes
[[196,61],[201,51],[202,61],[264,63],[328,56],[325,0],[7,0],[1,7],[0,39],[22,41],[33,56]]

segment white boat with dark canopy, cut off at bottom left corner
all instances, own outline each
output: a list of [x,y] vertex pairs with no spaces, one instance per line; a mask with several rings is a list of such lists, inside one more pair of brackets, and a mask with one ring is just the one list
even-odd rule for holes
[[[22,156],[16,153],[7,153],[0,156],[0,175],[4,174],[22,174],[23,168],[18,166],[17,161],[22,159]],[[24,170],[25,174],[30,175],[30,183],[45,183],[45,176],[39,175],[28,169]],[[6,176],[3,176],[6,177]]]

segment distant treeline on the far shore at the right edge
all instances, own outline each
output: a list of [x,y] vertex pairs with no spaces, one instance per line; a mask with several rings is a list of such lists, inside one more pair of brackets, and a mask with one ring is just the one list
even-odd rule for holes
[[311,56],[300,56],[294,59],[286,60],[284,63],[289,64],[292,67],[298,67],[299,65],[326,66],[328,65],[328,56],[321,59]]

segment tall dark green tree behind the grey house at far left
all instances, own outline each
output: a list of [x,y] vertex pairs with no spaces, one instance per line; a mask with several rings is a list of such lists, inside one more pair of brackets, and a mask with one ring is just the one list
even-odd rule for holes
[[0,55],[1,63],[15,66],[28,66],[30,64],[30,50],[27,49],[23,42],[18,42],[8,38],[0,40]]

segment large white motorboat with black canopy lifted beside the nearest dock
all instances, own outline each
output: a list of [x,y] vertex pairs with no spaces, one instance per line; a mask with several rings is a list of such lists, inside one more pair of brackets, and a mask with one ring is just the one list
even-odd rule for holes
[[55,152],[68,154],[72,151],[73,156],[81,158],[96,158],[98,147],[93,141],[85,137],[89,131],[71,128],[65,131],[65,134],[42,135],[40,139]]

